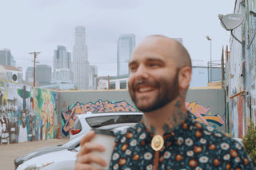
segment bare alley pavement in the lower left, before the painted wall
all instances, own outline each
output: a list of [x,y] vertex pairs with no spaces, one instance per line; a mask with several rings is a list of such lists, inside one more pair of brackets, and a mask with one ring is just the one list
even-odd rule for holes
[[69,141],[68,138],[27,141],[17,144],[2,144],[0,145],[0,169],[13,170],[15,168],[14,159],[16,159],[18,156],[22,156],[37,148],[65,144],[67,141]]

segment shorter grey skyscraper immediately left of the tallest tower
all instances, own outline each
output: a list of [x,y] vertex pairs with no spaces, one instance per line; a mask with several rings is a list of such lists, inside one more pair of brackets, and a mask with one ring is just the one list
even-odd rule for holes
[[58,45],[54,50],[54,71],[56,69],[71,69],[71,53],[66,51],[66,47]]

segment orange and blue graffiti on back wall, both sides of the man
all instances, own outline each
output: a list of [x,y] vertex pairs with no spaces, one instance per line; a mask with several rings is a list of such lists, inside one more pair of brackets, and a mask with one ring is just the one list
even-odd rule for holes
[[[208,112],[210,108],[198,105],[197,102],[186,102],[186,109],[194,115],[195,121],[200,121],[205,125],[209,125],[208,122],[211,122],[214,124],[214,128],[216,128],[217,125],[222,126],[225,123],[220,114],[217,113],[216,115],[210,115]],[[98,100],[95,103],[89,102],[86,104],[77,102],[75,105],[68,106],[66,112],[62,112],[62,132],[66,136],[69,135],[69,130],[77,119],[76,115],[86,114],[86,112],[138,112],[138,109],[129,105],[126,101],[110,102]]]

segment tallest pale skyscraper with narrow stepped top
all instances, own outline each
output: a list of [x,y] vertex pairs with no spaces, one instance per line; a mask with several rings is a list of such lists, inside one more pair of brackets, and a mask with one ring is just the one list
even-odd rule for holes
[[90,63],[88,61],[86,46],[86,28],[84,26],[76,26],[74,34],[73,47],[73,73],[74,84],[78,89],[89,88]]

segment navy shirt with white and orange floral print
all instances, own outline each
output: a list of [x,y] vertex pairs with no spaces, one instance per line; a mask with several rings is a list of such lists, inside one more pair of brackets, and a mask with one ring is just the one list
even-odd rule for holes
[[118,132],[110,169],[254,169],[242,144],[188,114],[182,125],[163,136],[164,146],[157,152],[143,121]]

